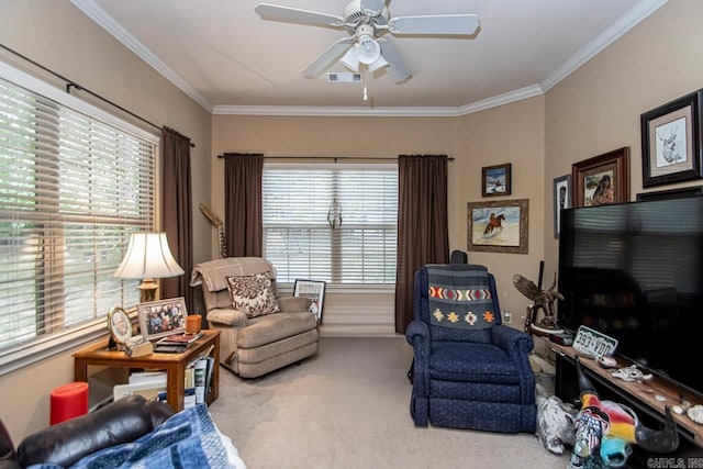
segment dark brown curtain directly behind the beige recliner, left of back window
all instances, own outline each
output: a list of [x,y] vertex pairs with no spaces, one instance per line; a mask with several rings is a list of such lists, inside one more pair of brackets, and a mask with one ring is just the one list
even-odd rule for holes
[[264,155],[225,153],[223,157],[227,257],[261,256]]

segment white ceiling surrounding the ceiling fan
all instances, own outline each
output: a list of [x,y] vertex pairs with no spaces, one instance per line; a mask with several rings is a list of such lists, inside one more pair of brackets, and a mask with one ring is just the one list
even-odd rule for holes
[[[477,13],[481,24],[472,38],[387,34],[413,75],[395,85],[384,71],[303,78],[346,31],[261,20],[256,0],[71,0],[213,113],[333,115],[459,115],[543,93],[666,1],[390,0],[391,16]],[[343,15],[347,0],[267,2]]]

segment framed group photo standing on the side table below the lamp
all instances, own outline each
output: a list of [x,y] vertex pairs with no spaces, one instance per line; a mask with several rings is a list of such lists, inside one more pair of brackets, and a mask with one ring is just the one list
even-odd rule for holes
[[140,330],[145,340],[186,332],[186,301],[182,297],[137,305]]

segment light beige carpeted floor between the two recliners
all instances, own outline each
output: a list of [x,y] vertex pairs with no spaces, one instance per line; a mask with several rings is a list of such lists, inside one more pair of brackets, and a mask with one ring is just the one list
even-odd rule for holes
[[317,356],[254,380],[221,368],[211,406],[248,469],[565,468],[535,435],[417,428],[412,348],[398,338],[322,338]]

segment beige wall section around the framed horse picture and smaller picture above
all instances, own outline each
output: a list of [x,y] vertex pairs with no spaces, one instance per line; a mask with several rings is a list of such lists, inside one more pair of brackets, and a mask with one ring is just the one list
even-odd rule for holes
[[[469,253],[469,261],[482,264],[495,276],[501,309],[513,313],[512,325],[522,327],[521,316],[529,300],[513,287],[522,273],[537,282],[544,258],[544,99],[531,98],[459,119],[458,154],[449,178],[455,185],[449,203],[451,246],[467,248],[467,202],[528,199],[527,254]],[[481,167],[512,165],[512,193],[481,196]]]

